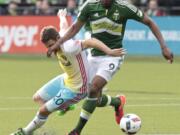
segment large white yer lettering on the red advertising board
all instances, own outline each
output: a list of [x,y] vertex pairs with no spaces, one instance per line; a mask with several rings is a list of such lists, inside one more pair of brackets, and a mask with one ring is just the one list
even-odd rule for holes
[[35,36],[38,34],[38,26],[18,25],[0,26],[0,52],[8,52],[12,45],[16,47],[36,46],[38,41]]

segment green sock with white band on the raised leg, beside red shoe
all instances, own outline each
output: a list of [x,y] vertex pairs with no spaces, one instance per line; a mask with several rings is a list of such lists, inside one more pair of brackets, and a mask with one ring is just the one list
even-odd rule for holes
[[105,107],[108,105],[118,107],[120,105],[121,101],[118,97],[111,97],[109,95],[102,95],[101,99],[98,102],[97,107]]

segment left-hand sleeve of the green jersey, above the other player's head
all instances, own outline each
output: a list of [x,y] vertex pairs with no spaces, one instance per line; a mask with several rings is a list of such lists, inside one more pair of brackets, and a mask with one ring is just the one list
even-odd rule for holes
[[78,20],[82,22],[86,22],[88,18],[89,18],[89,12],[88,12],[88,0],[87,0],[79,10]]

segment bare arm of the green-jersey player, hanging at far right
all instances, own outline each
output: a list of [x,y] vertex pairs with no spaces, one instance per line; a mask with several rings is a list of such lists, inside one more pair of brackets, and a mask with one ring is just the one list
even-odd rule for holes
[[155,35],[155,37],[159,41],[164,58],[166,60],[168,60],[169,63],[172,63],[173,62],[173,53],[171,53],[170,49],[166,46],[165,40],[164,40],[158,26],[146,14],[144,15],[142,23],[144,23],[151,29],[152,33]]

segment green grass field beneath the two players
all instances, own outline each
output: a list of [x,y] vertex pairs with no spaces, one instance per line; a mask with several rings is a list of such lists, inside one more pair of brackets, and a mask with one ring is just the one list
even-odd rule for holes
[[[33,93],[60,73],[55,59],[0,56],[0,135],[34,117]],[[110,95],[127,96],[126,113],[142,119],[139,135],[180,135],[180,58],[171,65],[160,57],[128,57],[107,88]],[[76,124],[81,104],[63,117],[52,114],[36,135],[65,135]],[[113,113],[111,107],[96,109],[82,135],[123,135]]]

